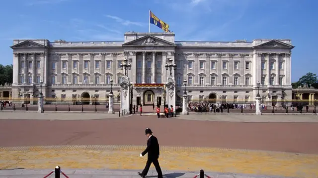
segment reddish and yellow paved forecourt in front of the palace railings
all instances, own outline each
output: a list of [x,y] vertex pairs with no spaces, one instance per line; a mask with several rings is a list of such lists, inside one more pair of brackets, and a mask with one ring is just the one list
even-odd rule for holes
[[[205,122],[139,115],[105,119],[107,114],[101,113],[10,114],[0,115],[1,170],[53,169],[56,165],[141,170],[146,157],[139,154],[145,149],[144,130],[149,127],[159,138],[159,161],[166,171],[318,177],[318,123]],[[86,120],[89,116],[95,119]],[[222,115],[223,120],[230,116]]]

